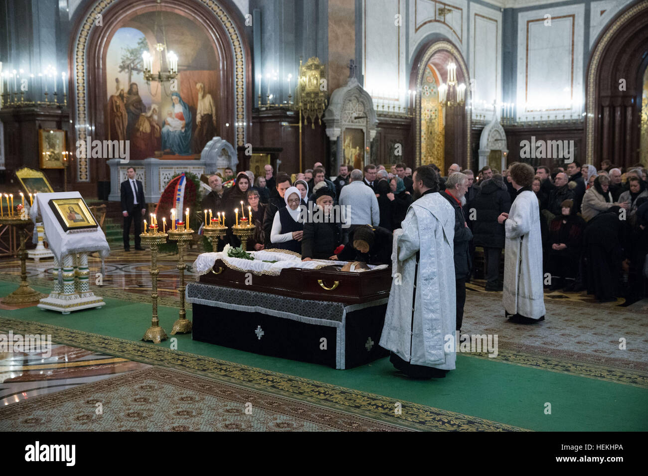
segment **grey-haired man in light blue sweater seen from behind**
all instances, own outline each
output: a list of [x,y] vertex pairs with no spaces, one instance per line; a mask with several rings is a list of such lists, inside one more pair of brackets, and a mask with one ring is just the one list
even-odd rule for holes
[[356,168],[351,171],[351,182],[349,185],[342,187],[340,191],[340,205],[348,205],[349,213],[346,216],[347,225],[343,229],[342,244],[349,242],[349,233],[361,225],[371,225],[377,227],[380,223],[380,209],[378,209],[378,199],[373,192],[373,188],[367,187],[364,183],[364,174],[362,170]]

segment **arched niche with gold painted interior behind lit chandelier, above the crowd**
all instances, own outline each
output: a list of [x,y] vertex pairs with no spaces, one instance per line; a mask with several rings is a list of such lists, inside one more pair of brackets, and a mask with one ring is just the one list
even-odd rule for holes
[[[464,106],[443,108],[438,87],[448,78],[448,64],[457,66],[457,83],[469,85],[468,68],[450,41],[431,41],[413,63],[410,87],[417,91],[415,107],[416,164],[434,163],[443,174],[452,163],[470,163],[470,115]],[[469,88],[465,103],[468,104]]]

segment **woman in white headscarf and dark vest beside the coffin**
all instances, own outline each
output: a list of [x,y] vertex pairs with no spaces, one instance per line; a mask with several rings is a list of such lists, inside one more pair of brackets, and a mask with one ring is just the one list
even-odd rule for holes
[[301,192],[299,188],[290,187],[284,194],[286,206],[275,213],[270,231],[272,245],[266,248],[288,249],[301,255],[301,238],[303,237],[304,223],[299,221],[301,209]]

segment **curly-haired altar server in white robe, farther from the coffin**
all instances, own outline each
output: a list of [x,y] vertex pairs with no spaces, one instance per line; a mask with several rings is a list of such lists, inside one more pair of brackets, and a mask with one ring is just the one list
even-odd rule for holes
[[544,321],[542,289],[542,236],[538,198],[531,190],[533,167],[516,163],[509,168],[511,185],[517,191],[508,213],[498,217],[504,223],[503,304],[512,322],[532,324]]

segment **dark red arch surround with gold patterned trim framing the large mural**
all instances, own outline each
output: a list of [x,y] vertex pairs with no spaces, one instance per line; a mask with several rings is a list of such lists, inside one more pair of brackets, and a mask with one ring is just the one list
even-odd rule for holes
[[[111,40],[122,27],[131,27],[142,32],[149,40],[151,32],[141,20],[158,10],[183,17],[200,30],[207,40],[218,62],[213,71],[217,78],[214,84],[218,91],[211,93],[216,102],[216,133],[231,144],[244,145],[248,122],[251,118],[251,80],[250,51],[246,36],[241,34],[243,27],[240,12],[229,6],[227,1],[218,3],[213,0],[134,0],[120,2],[102,0],[89,5],[79,17],[74,30],[76,39],[71,43],[69,63],[72,86],[69,100],[71,118],[75,122],[73,141],[107,139],[106,98],[115,92],[115,84],[108,84],[106,58]],[[100,19],[101,25],[97,25]],[[141,28],[137,28],[141,25]],[[187,38],[196,33],[188,31]],[[182,62],[179,62],[179,72]],[[211,68],[213,65],[207,65]],[[195,84],[193,85],[195,87]],[[205,85],[206,86],[206,85]],[[219,100],[220,99],[220,100]],[[159,111],[160,113],[162,111]],[[108,166],[104,161],[76,159],[75,181],[84,188],[83,183],[108,180]],[[91,187],[88,192],[94,193]],[[85,192],[85,191],[84,191]]]

